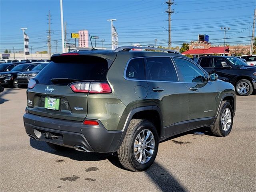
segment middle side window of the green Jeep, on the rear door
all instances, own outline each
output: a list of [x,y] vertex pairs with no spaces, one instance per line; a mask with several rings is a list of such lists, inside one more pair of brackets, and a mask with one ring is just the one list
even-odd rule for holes
[[170,57],[149,57],[146,59],[152,80],[178,82],[178,76]]

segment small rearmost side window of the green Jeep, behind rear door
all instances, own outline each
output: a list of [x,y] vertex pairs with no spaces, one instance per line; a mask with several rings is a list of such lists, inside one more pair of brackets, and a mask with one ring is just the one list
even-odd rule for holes
[[125,75],[127,78],[145,80],[144,58],[130,60]]

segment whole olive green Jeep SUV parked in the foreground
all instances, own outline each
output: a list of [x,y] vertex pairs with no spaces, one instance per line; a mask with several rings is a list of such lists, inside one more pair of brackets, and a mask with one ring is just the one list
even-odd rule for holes
[[216,136],[230,133],[232,84],[179,52],[133,48],[53,55],[28,84],[30,138],[55,150],[117,152],[124,168],[143,171],[166,138],[209,126]]

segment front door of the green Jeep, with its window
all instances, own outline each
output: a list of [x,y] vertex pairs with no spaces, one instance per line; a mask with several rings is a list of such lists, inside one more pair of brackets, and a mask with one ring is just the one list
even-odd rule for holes
[[215,82],[208,81],[203,70],[188,59],[173,57],[189,91],[189,128],[203,126],[212,121],[217,110],[217,88]]

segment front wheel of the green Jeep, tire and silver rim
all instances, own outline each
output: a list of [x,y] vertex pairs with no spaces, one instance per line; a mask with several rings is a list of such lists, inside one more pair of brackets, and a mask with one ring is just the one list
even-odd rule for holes
[[218,111],[216,121],[210,127],[210,129],[214,135],[219,137],[225,137],[228,134],[230,134],[232,126],[233,126],[233,109],[229,102],[222,101],[220,105],[220,109]]

